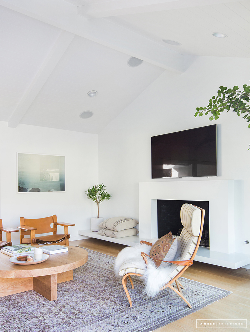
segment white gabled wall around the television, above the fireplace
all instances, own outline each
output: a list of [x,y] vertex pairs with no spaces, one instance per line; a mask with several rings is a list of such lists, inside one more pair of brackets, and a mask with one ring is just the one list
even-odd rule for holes
[[113,196],[102,203],[103,213],[138,218],[139,182],[176,181],[151,179],[151,136],[216,123],[218,177],[194,180],[239,180],[236,199],[243,209],[235,223],[235,250],[250,254],[250,244],[244,243],[250,241],[248,124],[232,112],[216,122],[194,117],[196,107],[206,106],[219,86],[249,84],[250,59],[186,56],[185,61],[184,74],[165,71],[99,134],[99,181]]

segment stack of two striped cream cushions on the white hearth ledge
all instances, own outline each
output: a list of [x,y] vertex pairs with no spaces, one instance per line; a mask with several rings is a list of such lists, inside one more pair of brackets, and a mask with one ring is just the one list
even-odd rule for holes
[[115,238],[137,235],[139,231],[134,228],[137,224],[138,221],[132,218],[108,218],[98,225],[102,227],[98,234]]

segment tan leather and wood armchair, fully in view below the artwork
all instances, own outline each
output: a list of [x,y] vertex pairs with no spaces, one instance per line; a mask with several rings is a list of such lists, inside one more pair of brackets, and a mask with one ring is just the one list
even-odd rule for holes
[[[48,243],[60,243],[62,245],[69,245],[70,235],[68,233],[69,226],[75,226],[75,224],[57,222],[57,217],[55,214],[51,217],[39,218],[39,219],[25,219],[20,218],[21,229],[20,243],[30,243],[32,244],[48,244]],[[36,227],[32,227],[31,225]],[[50,226],[52,224],[53,227]],[[57,225],[64,226],[64,234],[57,234]],[[38,236],[36,234],[50,233],[52,235]],[[30,238],[25,238],[25,235],[30,235]]]

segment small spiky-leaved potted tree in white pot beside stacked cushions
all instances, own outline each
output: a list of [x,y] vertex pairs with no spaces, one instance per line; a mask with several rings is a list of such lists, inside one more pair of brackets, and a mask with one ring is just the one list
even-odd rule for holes
[[89,188],[85,193],[87,198],[92,200],[97,205],[97,218],[91,218],[91,231],[98,232],[101,229],[98,224],[103,221],[103,218],[99,218],[99,204],[101,204],[104,200],[110,201],[112,196],[110,193],[107,193],[106,186],[99,183],[98,185]]

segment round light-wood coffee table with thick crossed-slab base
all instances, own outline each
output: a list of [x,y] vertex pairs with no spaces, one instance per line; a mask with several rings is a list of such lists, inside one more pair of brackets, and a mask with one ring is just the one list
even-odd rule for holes
[[0,253],[0,297],[35,290],[50,301],[56,300],[57,284],[73,280],[73,269],[88,260],[83,248],[67,247],[68,252],[50,255],[46,261],[33,265],[13,264],[10,256]]

